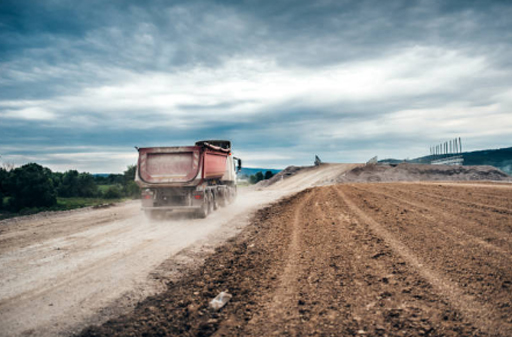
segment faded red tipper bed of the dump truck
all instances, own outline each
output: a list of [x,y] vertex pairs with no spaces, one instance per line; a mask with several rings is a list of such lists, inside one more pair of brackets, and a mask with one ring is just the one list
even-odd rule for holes
[[205,146],[139,149],[140,179],[147,184],[180,184],[220,179],[229,151]]

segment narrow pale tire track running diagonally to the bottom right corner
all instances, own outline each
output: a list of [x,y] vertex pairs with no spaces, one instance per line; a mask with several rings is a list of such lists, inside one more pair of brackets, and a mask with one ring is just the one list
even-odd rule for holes
[[406,262],[415,268],[420,275],[434,286],[437,292],[448,299],[448,301],[460,311],[468,322],[472,322],[480,331],[489,335],[511,335],[512,324],[504,320],[504,316],[495,310],[489,303],[475,301],[473,296],[468,295],[456,283],[448,277],[435,272],[427,267],[426,261],[414,254],[397,236],[385,229],[383,225],[371,218],[366,212],[360,209],[356,204],[342,191],[343,187],[338,187],[339,196],[345,201],[349,208],[361,220],[367,223],[372,231],[382,237]]

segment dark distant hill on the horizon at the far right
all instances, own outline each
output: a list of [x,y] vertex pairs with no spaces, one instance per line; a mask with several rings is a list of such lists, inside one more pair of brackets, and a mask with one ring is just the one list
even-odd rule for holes
[[[502,170],[509,175],[512,175],[512,147],[463,152],[461,155],[464,158],[464,165],[490,165]],[[453,155],[424,156],[412,160],[407,160],[407,162],[416,164],[428,164],[434,159],[434,157],[443,158],[451,156]],[[392,158],[379,160],[379,163],[389,164],[398,164],[402,162],[404,162],[404,160]]]

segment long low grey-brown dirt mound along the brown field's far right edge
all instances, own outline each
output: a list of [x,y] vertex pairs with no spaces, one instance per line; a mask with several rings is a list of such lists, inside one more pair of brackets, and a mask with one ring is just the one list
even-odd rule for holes
[[512,181],[512,177],[492,166],[450,166],[402,163],[359,166],[334,179],[342,182],[493,180]]

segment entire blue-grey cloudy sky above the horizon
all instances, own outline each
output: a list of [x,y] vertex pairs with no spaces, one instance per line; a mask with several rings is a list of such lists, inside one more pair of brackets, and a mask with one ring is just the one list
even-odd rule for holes
[[231,139],[246,166],[512,146],[511,1],[0,1],[0,158],[121,172]]

